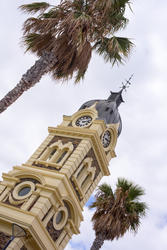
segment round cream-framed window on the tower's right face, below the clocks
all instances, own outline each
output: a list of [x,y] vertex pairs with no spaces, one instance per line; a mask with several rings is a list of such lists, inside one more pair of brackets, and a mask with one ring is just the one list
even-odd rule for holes
[[56,230],[61,230],[68,219],[68,211],[66,207],[61,207],[59,210],[55,213],[53,217],[53,226]]

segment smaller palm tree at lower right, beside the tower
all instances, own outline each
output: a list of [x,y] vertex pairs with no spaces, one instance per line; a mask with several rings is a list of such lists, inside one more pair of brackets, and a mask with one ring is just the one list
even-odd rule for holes
[[99,186],[96,200],[90,206],[96,208],[92,217],[96,238],[91,250],[100,249],[104,240],[118,239],[128,230],[137,232],[147,209],[139,201],[143,194],[141,187],[123,178],[118,179],[114,193],[106,183]]

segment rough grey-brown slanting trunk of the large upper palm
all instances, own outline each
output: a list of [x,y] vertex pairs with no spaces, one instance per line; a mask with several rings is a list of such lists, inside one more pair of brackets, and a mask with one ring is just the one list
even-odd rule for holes
[[23,93],[40,81],[57,62],[52,52],[43,52],[35,64],[22,76],[20,82],[0,100],[0,113],[14,103]]

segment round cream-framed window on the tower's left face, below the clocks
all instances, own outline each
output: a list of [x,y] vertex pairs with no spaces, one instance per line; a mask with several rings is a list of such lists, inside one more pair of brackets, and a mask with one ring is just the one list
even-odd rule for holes
[[16,200],[22,200],[29,197],[35,190],[35,184],[31,181],[24,181],[18,184],[13,190],[13,197]]

